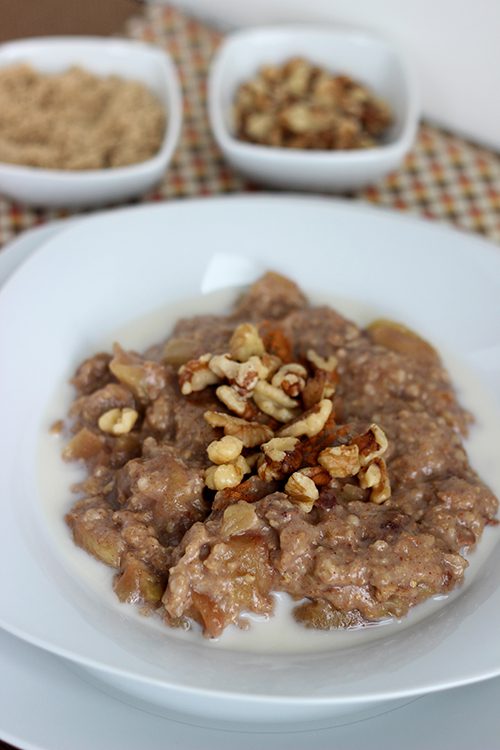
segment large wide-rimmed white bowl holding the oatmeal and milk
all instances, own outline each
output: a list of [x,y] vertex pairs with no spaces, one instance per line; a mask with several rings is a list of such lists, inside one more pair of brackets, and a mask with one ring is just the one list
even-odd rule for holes
[[[471,566],[467,585],[425,619],[395,623],[375,640],[349,637],[333,650],[325,641],[313,652],[305,644],[292,653],[255,653],[179,638],[119,605],[109,587],[95,588],[94,561],[65,534],[57,495],[40,491],[36,456],[47,403],[85,354],[167,297],[180,302],[202,288],[246,281],[270,264],[334,303],[362,299],[459,352],[493,391],[485,419],[497,425],[500,254],[482,240],[360,205],[268,196],[76,222],[0,294],[0,321],[8,321],[0,325],[0,497],[9,529],[0,565],[11,571],[0,624],[122,695],[198,721],[332,722],[500,674],[497,530],[483,540],[488,555]],[[495,451],[490,445],[476,458],[498,492]]]

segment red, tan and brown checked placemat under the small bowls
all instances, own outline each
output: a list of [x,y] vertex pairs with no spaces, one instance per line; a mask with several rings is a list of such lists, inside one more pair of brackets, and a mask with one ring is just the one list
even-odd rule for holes
[[[256,189],[225,164],[208,124],[207,72],[221,34],[179,10],[148,5],[129,22],[126,35],[170,52],[184,94],[184,127],[173,162],[161,185],[140,202]],[[452,222],[500,243],[500,155],[428,124],[420,127],[403,166],[353,199]],[[0,246],[24,229],[67,215],[0,197]]]

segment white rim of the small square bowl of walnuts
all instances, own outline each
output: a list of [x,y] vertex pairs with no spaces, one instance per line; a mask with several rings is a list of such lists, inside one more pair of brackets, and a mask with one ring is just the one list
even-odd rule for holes
[[[306,150],[296,148],[280,148],[279,146],[262,146],[256,143],[241,141],[233,136],[224,121],[220,96],[223,91],[222,72],[227,65],[229,55],[240,44],[251,41],[252,38],[281,36],[283,38],[298,38],[302,34],[322,37],[343,38],[351,41],[379,44],[394,55],[402,72],[407,106],[402,118],[400,135],[390,141],[368,149],[350,149],[331,151],[325,149]],[[411,59],[401,48],[383,35],[351,26],[336,24],[319,25],[317,23],[288,23],[254,26],[228,34],[218,48],[209,69],[208,75],[208,113],[213,135],[221,149],[230,152],[234,157],[255,158],[269,164],[280,161],[282,165],[293,162],[295,166],[329,164],[363,165],[377,163],[380,159],[400,156],[411,147],[417,131],[420,112],[420,97],[418,92],[417,75]]]

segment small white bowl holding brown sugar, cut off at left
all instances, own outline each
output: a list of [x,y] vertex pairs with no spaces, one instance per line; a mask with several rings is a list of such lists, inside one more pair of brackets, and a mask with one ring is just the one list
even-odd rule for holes
[[99,76],[115,74],[147,86],[166,110],[160,150],[126,167],[67,171],[0,163],[0,193],[36,206],[97,206],[134,198],[162,178],[179,139],[182,99],[170,57],[147,44],[93,37],[41,37],[0,46],[0,67],[26,62],[42,73],[80,65]]

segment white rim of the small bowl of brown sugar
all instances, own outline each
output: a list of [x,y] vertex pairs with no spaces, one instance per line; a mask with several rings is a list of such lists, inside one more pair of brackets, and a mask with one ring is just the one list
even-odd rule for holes
[[[151,59],[156,58],[155,62],[161,71],[162,86],[170,99],[168,111],[166,112],[165,132],[159,150],[154,156],[136,164],[102,169],[47,169],[45,167],[30,167],[23,164],[11,164],[10,162],[0,161],[0,174],[18,179],[23,177],[30,180],[56,179],[58,182],[67,183],[69,186],[75,183],[94,183],[95,180],[99,180],[99,182],[114,182],[116,179],[124,177],[141,177],[158,168],[163,168],[172,157],[182,129],[181,88],[175,63],[169,53],[160,47],[135,39],[108,39],[106,37],[85,35],[40,36],[15,39],[0,44],[0,69],[6,67],[3,64],[6,59],[8,61],[7,65],[19,62],[16,59],[18,51],[22,52],[24,49],[33,49],[34,51],[39,50],[43,52],[44,48],[50,50],[54,47],[69,47],[70,45],[75,48],[75,51],[77,51],[79,46],[94,47],[104,50],[108,49],[109,51],[116,49],[117,51],[149,56]],[[12,59],[9,60],[8,55],[11,51],[14,54]],[[4,56],[5,54],[7,54],[7,57]],[[120,74],[117,73],[117,75]],[[163,104],[162,109],[165,111]]]

